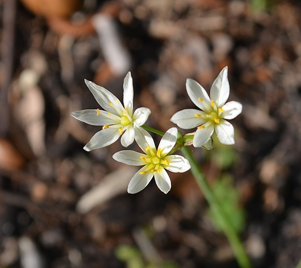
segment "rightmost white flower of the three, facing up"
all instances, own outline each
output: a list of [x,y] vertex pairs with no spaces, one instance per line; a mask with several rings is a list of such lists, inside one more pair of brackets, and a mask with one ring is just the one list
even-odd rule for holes
[[210,98],[206,90],[196,81],[187,79],[186,90],[197,109],[184,109],[176,112],[170,121],[182,129],[197,127],[193,146],[204,145],[213,132],[223,144],[234,144],[234,127],[225,119],[233,119],[242,111],[242,105],[236,101],[227,102],[230,93],[228,66],[219,73],[210,89]]

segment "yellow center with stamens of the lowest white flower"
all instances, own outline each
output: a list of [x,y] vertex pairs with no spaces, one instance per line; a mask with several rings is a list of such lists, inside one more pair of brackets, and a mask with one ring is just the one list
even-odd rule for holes
[[147,148],[145,148],[145,151],[147,152],[147,154],[143,157],[140,157],[141,160],[145,162],[145,170],[141,171],[140,174],[145,174],[148,171],[158,172],[158,170],[164,168],[164,166],[169,165],[166,156],[161,156],[160,148],[158,149],[158,151],[156,151],[155,148],[148,146]]

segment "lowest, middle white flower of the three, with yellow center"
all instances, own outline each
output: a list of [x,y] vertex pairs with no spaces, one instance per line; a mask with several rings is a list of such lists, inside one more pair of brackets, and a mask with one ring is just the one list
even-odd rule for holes
[[131,150],[113,154],[113,159],[118,162],[131,166],[143,166],[129,182],[128,193],[140,192],[153,177],[159,189],[163,193],[168,193],[171,181],[165,169],[171,172],[185,172],[190,169],[188,160],[181,155],[168,155],[177,141],[177,133],[176,127],[168,129],[157,150],[151,135],[143,128],[135,127],[135,140],[144,154]]

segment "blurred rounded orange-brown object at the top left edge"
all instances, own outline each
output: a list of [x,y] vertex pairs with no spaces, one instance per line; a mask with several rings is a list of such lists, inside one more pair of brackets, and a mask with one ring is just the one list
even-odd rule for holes
[[69,18],[82,8],[83,0],[21,0],[34,14],[51,18]]

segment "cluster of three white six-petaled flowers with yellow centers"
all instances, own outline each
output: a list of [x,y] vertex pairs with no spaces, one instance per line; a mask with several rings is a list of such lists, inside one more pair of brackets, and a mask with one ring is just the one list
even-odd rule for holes
[[[230,86],[226,66],[218,75],[210,90],[210,98],[204,88],[192,79],[187,79],[186,89],[192,102],[202,111],[185,109],[175,113],[170,119],[182,129],[197,127],[193,137],[194,147],[202,147],[210,140],[215,131],[223,144],[234,144],[234,128],[225,119],[233,119],[242,111],[239,102],[227,102]],[[148,119],[150,109],[141,107],[133,112],[133,80],[128,72],[123,82],[123,104],[119,99],[91,81],[85,83],[98,104],[104,109],[87,109],[72,112],[71,115],[85,123],[102,126],[85,145],[86,151],[106,147],[121,136],[124,147],[131,145],[134,140],[143,153],[123,150],[113,154],[113,159],[132,166],[143,166],[136,172],[128,186],[128,193],[138,193],[155,177],[159,189],[168,193],[171,181],[166,170],[171,172],[186,172],[190,169],[187,159],[181,155],[172,154],[172,149],[178,141],[178,130],[168,129],[163,135],[158,149],[151,135],[141,126]],[[184,144],[183,144],[184,145]]]

